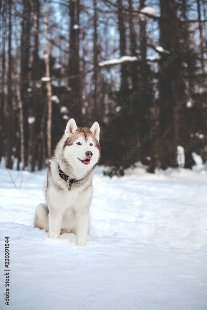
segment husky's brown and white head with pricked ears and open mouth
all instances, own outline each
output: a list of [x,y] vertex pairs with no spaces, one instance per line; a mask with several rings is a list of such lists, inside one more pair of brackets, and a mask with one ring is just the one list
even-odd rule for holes
[[88,171],[100,159],[100,127],[95,122],[91,128],[78,127],[73,118],[65,129],[64,157],[78,170]]

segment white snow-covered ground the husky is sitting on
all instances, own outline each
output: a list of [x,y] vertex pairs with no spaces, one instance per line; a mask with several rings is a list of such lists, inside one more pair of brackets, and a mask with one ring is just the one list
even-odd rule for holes
[[[10,310],[206,310],[207,174],[127,170],[93,179],[91,230],[52,240],[34,228],[45,171],[0,169],[0,308],[4,238],[10,240]],[[18,177],[18,179],[16,179]],[[70,193],[69,193],[70,195]]]

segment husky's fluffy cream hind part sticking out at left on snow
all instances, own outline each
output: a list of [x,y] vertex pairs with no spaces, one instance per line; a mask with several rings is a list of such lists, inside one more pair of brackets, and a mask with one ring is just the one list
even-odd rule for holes
[[34,220],[34,227],[39,229],[45,229],[46,232],[49,231],[49,220],[48,220],[48,206],[41,203],[36,207],[35,211],[35,220]]

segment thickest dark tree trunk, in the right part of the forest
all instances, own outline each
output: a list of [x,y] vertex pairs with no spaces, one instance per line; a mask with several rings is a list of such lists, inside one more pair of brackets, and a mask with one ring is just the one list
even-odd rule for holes
[[[179,46],[178,17],[176,9],[170,8],[170,0],[160,0],[160,46],[173,53]],[[178,112],[175,115],[173,106],[179,100],[182,84],[182,55],[166,69],[162,69],[168,60],[168,53],[162,54],[160,59],[160,162],[163,170],[167,169],[171,160],[177,158],[178,145]],[[174,88],[173,88],[174,86]],[[169,143],[170,141],[170,143]],[[177,164],[174,165],[175,167]]]

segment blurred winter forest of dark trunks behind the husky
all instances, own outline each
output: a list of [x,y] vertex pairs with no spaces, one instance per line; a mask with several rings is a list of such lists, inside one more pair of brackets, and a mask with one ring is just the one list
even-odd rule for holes
[[99,122],[110,176],[206,162],[205,0],[1,0],[0,14],[7,168],[47,166],[70,118]]

